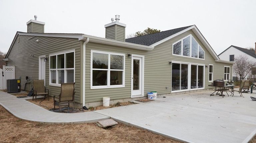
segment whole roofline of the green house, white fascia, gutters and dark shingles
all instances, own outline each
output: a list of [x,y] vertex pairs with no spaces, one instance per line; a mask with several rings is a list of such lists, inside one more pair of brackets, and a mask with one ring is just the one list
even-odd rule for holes
[[[12,48],[12,46],[13,46],[13,44],[14,44],[18,35],[77,38],[78,40],[83,40],[83,41],[88,41],[88,42],[90,41],[90,42],[95,42],[95,43],[108,44],[108,45],[114,45],[114,46],[120,46],[120,47],[127,47],[127,48],[132,48],[132,49],[150,51],[150,50],[153,50],[155,46],[157,46],[157,45],[159,45],[159,44],[161,44],[161,43],[163,43],[163,42],[165,42],[165,41],[167,41],[167,40],[169,40],[169,39],[171,39],[175,36],[178,36],[178,35],[186,32],[188,30],[192,30],[195,33],[195,35],[199,38],[199,40],[202,42],[202,44],[205,46],[205,48],[212,55],[215,62],[233,64],[232,62],[220,60],[220,58],[217,56],[217,54],[214,52],[214,50],[212,49],[210,44],[206,41],[204,36],[201,34],[201,32],[198,30],[198,28],[195,25],[181,27],[181,28],[172,29],[172,30],[167,30],[167,31],[154,33],[154,34],[149,34],[149,35],[145,35],[145,36],[130,38],[130,40],[126,39],[127,40],[126,42],[112,40],[112,39],[106,39],[106,38],[96,37],[96,36],[91,36],[91,35],[86,35],[86,34],[17,32],[5,58],[8,57],[8,55],[11,51],[11,48]],[[143,44],[139,43],[139,41],[143,41],[142,39],[145,40],[145,42]],[[132,43],[132,41],[134,43]],[[137,43],[135,41],[137,41]]]

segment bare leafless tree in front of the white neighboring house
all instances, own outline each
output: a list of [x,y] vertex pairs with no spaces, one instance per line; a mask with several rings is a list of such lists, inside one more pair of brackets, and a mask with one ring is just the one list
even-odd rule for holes
[[246,56],[242,55],[236,57],[234,62],[234,74],[238,75],[241,79],[244,79],[256,66],[256,62],[250,61]]

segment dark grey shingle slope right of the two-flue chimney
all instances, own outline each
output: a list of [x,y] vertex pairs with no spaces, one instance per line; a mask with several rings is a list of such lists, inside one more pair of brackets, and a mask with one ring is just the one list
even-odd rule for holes
[[[193,26],[193,25],[191,25],[191,26]],[[158,41],[161,41],[173,34],[176,34],[184,29],[187,29],[191,26],[176,28],[176,29],[172,29],[172,30],[162,31],[162,32],[148,34],[148,35],[139,36],[139,37],[133,37],[133,38],[125,39],[125,42],[150,46]]]

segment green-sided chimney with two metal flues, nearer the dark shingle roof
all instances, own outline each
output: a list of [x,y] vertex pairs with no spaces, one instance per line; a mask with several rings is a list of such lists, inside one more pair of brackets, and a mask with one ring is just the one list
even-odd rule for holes
[[120,15],[116,15],[114,18],[111,18],[111,23],[106,24],[106,33],[105,38],[113,39],[118,41],[125,41],[125,27],[126,24],[120,23]]

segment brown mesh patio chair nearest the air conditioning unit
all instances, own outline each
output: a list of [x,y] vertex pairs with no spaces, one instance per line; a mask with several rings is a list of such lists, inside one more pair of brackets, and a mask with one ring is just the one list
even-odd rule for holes
[[[33,94],[32,100],[34,100],[34,96],[37,96],[37,95],[44,95],[44,99],[47,95],[49,100],[49,89],[45,89],[44,79],[33,80],[33,89],[34,89],[34,94]],[[48,90],[48,92],[46,92],[46,90]]]

